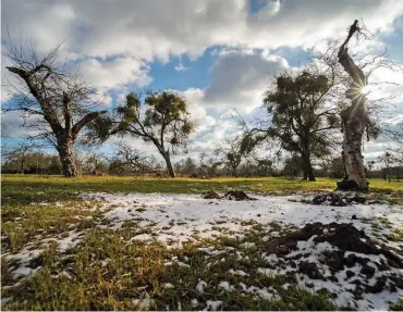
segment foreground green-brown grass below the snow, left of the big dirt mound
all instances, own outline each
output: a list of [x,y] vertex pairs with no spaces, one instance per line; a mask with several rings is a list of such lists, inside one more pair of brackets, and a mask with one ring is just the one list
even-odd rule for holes
[[[249,234],[244,240],[264,244],[260,234]],[[123,239],[121,238],[123,237]],[[117,232],[91,229],[82,244],[65,254],[47,250],[36,262],[41,264],[32,278],[17,287],[3,290],[3,297],[13,297],[4,310],[136,310],[135,299],[151,298],[152,310],[202,310],[207,300],[220,300],[223,310],[334,310],[326,294],[313,294],[292,286],[284,289],[285,277],[269,277],[257,272],[264,265],[258,249],[242,250],[242,240],[225,238],[227,245],[237,247],[248,260],[237,260],[235,251],[207,255],[197,247],[211,246],[205,240],[187,245],[183,249],[166,249],[159,244],[127,242],[130,229]],[[221,241],[215,247],[223,248]],[[185,262],[181,266],[173,259]],[[223,261],[222,261],[223,259]],[[102,265],[103,261],[108,261]],[[8,263],[3,263],[7,273]],[[244,270],[248,276],[230,274],[230,269]],[[68,275],[61,274],[66,272]],[[199,280],[206,282],[204,292],[196,289]],[[224,291],[219,283],[227,280],[234,287]],[[292,280],[290,280],[292,282]],[[11,283],[10,277],[2,280]],[[164,288],[169,283],[173,288]],[[271,287],[278,297],[256,299],[253,294],[242,291],[246,287]],[[193,305],[196,299],[198,304]]]

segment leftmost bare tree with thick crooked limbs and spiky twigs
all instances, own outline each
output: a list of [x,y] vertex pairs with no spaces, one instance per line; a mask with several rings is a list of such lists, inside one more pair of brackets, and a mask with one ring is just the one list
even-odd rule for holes
[[81,80],[78,71],[68,72],[68,62],[58,61],[60,45],[46,55],[32,42],[15,45],[9,37],[8,45],[7,70],[19,84],[10,86],[13,97],[4,111],[21,112],[23,126],[35,132],[30,138],[50,142],[59,152],[64,176],[76,176],[73,147],[83,128],[105,113],[91,101],[95,91]]

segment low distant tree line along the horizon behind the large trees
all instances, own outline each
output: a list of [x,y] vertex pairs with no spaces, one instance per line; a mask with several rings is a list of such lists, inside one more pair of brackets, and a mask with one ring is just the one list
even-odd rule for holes
[[[229,149],[231,146],[229,146]],[[56,154],[32,151],[32,147],[21,143],[3,151],[2,173],[14,174],[61,174],[62,165]],[[87,150],[74,152],[74,163],[80,175],[167,176],[166,165],[155,155],[144,155],[126,143],[117,145],[112,155]],[[403,153],[390,150],[375,161],[365,163],[366,175],[370,178],[398,179],[403,177]],[[187,177],[210,178],[217,176],[265,177],[283,176],[297,178],[304,173],[304,162],[298,155],[258,158],[249,154],[234,164],[224,148],[213,153],[200,153],[196,158],[183,158],[173,163],[175,174]],[[315,176],[342,178],[345,175],[342,157],[331,155],[315,162]]]

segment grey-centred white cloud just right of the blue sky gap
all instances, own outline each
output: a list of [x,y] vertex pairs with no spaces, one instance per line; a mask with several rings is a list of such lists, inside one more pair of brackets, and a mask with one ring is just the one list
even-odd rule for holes
[[231,50],[218,53],[211,70],[211,83],[206,89],[184,92],[191,103],[223,112],[236,109],[251,113],[261,105],[269,76],[286,68],[288,62],[267,51]]

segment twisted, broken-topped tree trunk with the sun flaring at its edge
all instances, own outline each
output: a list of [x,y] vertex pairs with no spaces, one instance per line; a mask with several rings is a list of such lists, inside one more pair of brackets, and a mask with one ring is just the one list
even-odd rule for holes
[[[351,29],[353,29],[353,26]],[[363,135],[368,125],[368,116],[365,108],[366,98],[362,89],[367,85],[367,77],[364,75],[363,71],[354,64],[354,61],[347,53],[346,43],[352,36],[352,32],[350,33],[345,42],[340,47],[338,54],[339,63],[352,78],[350,89],[346,91],[346,97],[352,101],[352,104],[341,112],[343,160],[346,177],[344,182],[338,183],[338,187],[339,189],[355,188],[367,190],[368,184],[365,177],[362,153]]]

